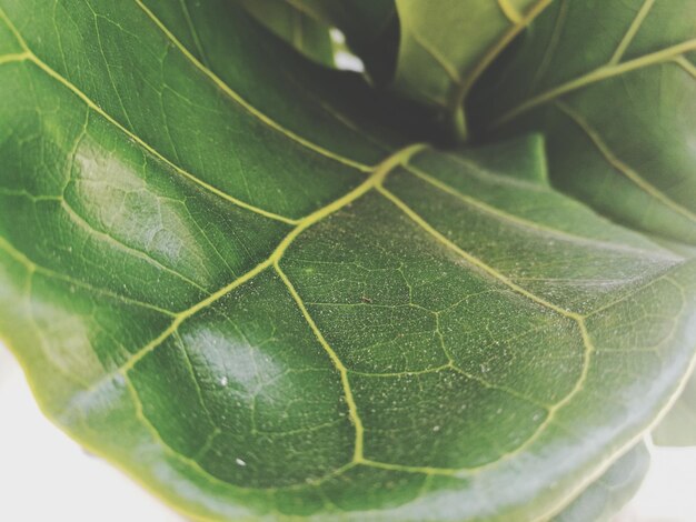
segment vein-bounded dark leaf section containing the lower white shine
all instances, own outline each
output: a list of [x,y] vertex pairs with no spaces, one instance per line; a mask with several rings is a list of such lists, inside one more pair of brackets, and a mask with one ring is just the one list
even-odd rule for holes
[[351,458],[338,372],[272,273],[183,323],[131,375],[163,442],[222,481],[305,484]]

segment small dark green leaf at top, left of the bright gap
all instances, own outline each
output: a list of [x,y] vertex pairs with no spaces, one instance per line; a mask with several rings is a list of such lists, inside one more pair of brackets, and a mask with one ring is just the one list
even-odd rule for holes
[[[329,27],[285,0],[237,0],[256,20],[309,59],[334,66]],[[185,4],[186,6],[186,4]]]

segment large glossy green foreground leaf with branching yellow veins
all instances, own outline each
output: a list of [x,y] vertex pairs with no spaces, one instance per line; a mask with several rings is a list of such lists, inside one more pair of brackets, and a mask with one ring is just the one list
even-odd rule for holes
[[685,378],[696,264],[538,138],[404,147],[181,6],[0,0],[0,332],[43,410],[196,516],[558,512]]

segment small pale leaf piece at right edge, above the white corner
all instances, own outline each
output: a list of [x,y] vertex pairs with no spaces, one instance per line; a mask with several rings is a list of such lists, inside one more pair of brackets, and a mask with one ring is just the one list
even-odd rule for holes
[[692,377],[677,402],[653,431],[658,445],[696,445],[696,377]]

